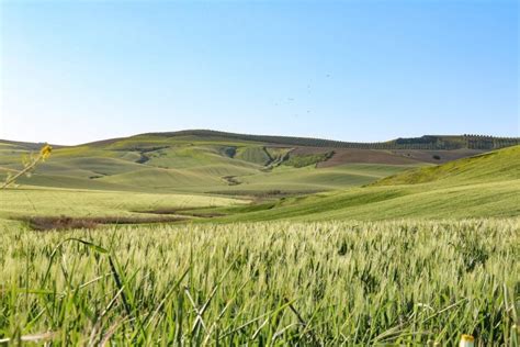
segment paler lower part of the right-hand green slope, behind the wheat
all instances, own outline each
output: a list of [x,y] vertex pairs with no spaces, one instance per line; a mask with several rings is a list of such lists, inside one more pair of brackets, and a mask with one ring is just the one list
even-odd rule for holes
[[509,217],[520,215],[519,192],[520,180],[448,188],[352,188],[341,192],[286,198],[264,204],[264,209],[258,206],[255,212],[241,206],[226,208],[224,211],[230,215],[218,221]]

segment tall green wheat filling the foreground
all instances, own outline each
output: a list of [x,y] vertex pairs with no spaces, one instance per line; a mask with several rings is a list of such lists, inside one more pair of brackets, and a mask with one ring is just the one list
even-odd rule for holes
[[[0,340],[518,344],[519,220],[0,234]],[[515,327],[517,324],[517,328]]]

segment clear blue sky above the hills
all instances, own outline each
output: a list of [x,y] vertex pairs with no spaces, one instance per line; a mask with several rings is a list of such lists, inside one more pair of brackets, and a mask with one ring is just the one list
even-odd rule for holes
[[0,138],[519,136],[516,0],[0,3]]

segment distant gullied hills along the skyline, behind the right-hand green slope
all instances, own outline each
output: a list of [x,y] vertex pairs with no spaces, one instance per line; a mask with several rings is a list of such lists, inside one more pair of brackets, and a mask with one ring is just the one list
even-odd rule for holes
[[[79,146],[56,146],[50,160],[20,183],[151,193],[278,197],[363,186],[410,167],[485,152],[446,145],[467,144],[464,136],[437,136],[436,149],[428,149],[429,145],[425,144],[432,138],[399,138],[382,147],[381,144],[212,131],[140,134]],[[441,142],[444,145],[439,145]],[[39,146],[1,141],[0,175],[19,169],[21,157]],[[444,147],[456,149],[439,149]]]

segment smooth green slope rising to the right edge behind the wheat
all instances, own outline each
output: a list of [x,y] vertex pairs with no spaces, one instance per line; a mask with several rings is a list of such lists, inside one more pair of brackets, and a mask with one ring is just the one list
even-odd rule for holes
[[516,146],[405,171],[368,187],[285,199],[253,212],[228,209],[233,215],[222,221],[519,216],[519,154]]

